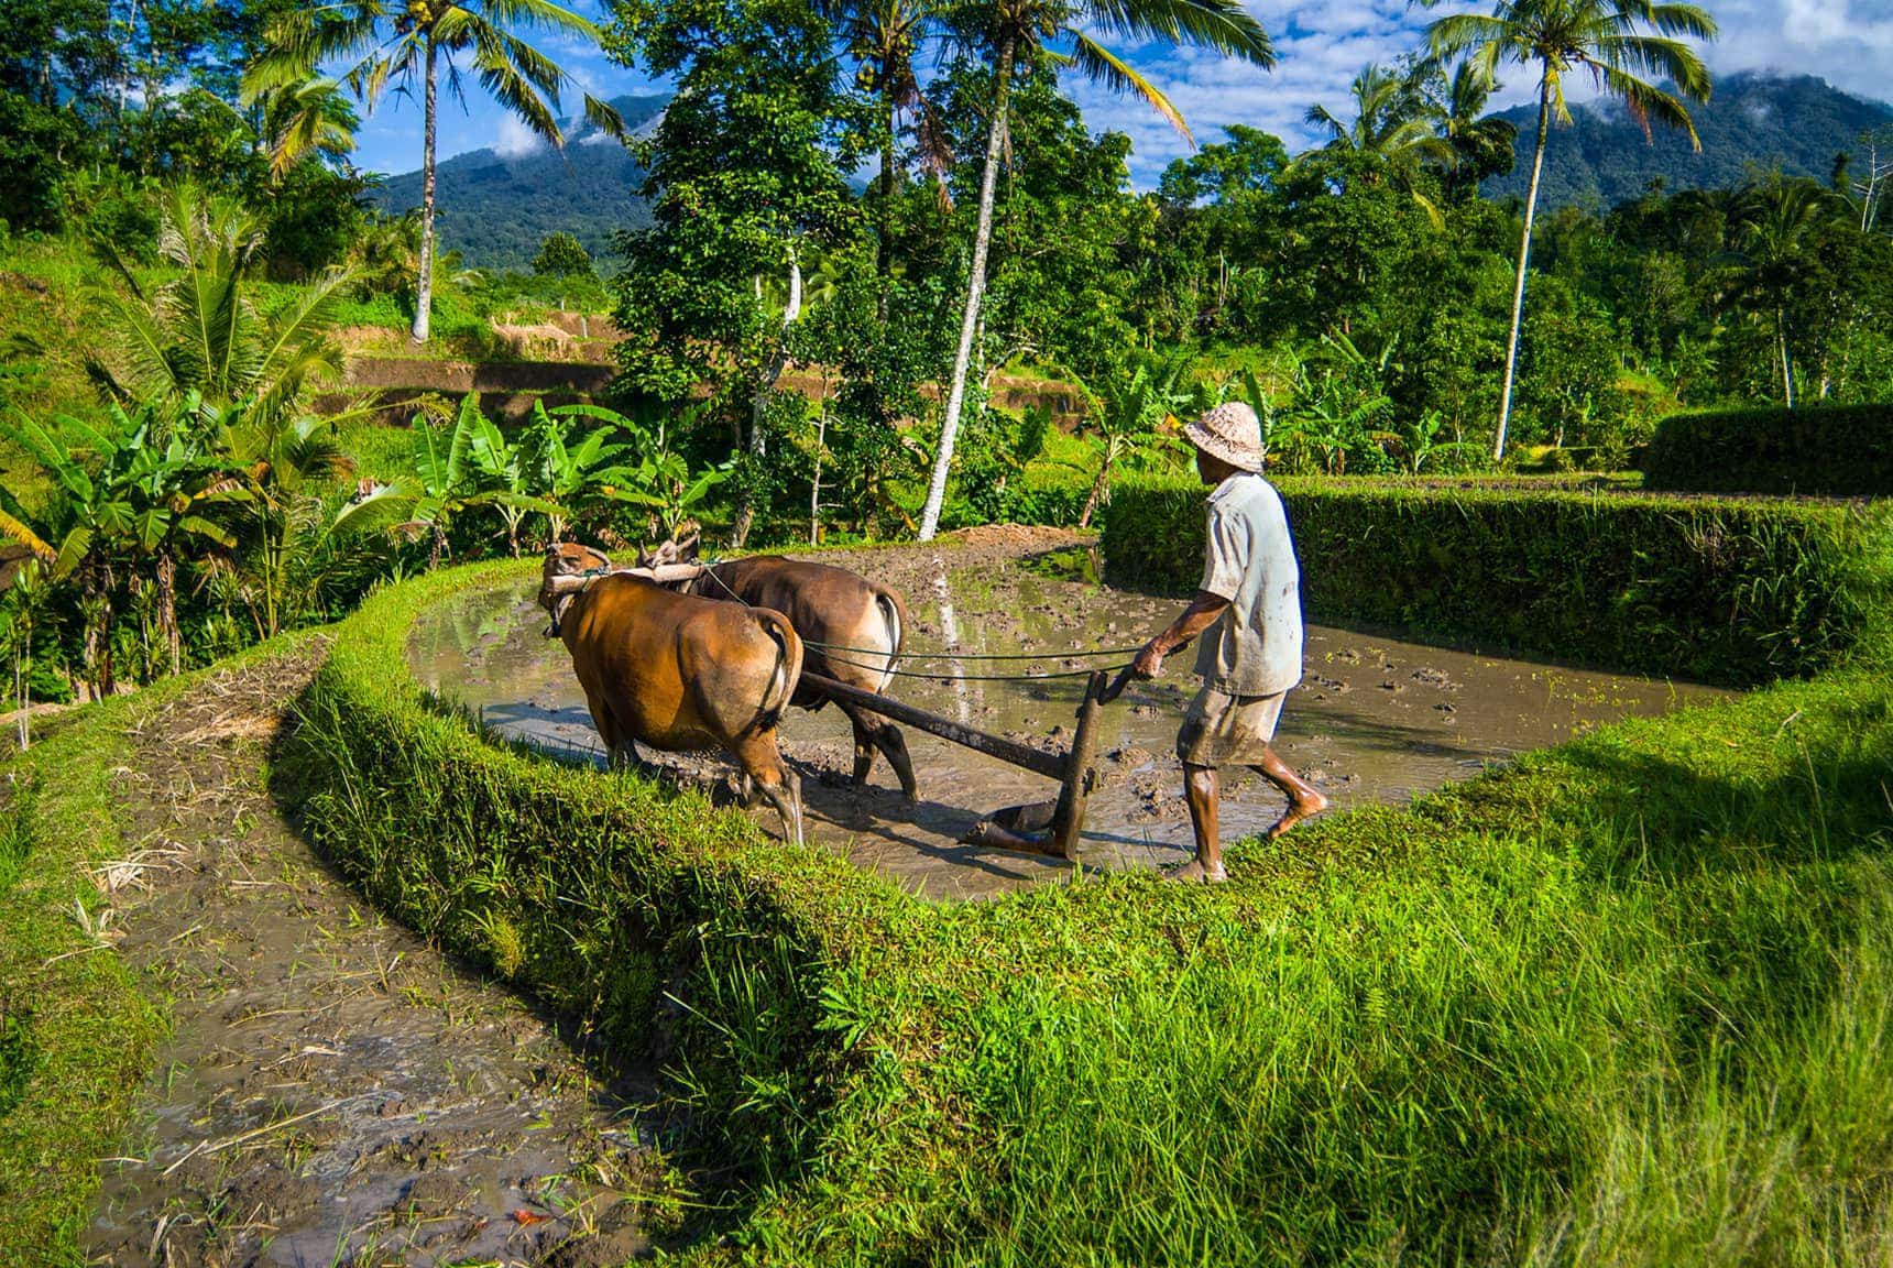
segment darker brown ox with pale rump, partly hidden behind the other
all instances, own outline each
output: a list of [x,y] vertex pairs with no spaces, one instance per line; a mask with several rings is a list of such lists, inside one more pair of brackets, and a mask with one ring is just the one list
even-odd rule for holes
[[[666,566],[695,556],[695,537],[664,543],[657,555],[647,555],[646,566]],[[689,594],[723,598],[772,608],[784,613],[795,630],[808,640],[803,668],[835,681],[880,695],[893,681],[893,662],[901,655],[901,636],[907,630],[907,600],[897,590],[869,581],[846,568],[805,564],[780,555],[755,555],[712,564],[700,577],[683,583]],[[854,651],[839,651],[852,647]],[[818,710],[829,696],[803,679],[793,704]],[[835,700],[835,708],[854,725],[854,782],[867,784],[880,749],[901,782],[901,793],[912,799],[914,763],[907,755],[907,740],[893,723],[867,710]]]

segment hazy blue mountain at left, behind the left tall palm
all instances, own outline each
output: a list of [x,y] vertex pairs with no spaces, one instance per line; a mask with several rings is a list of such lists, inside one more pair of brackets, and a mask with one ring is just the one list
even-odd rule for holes
[[[646,134],[668,95],[617,97],[625,127]],[[534,144],[519,153],[469,150],[435,165],[433,225],[443,250],[477,269],[526,269],[547,235],[577,235],[593,257],[611,254],[611,233],[649,223],[634,189],[644,168],[589,123],[560,121],[564,150]],[[420,172],[390,176],[373,195],[386,212],[420,206]]]

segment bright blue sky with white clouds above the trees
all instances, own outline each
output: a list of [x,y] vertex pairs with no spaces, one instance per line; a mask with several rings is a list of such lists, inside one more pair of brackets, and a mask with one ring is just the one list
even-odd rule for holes
[[[1721,25],[1721,38],[1704,49],[1715,74],[1772,70],[1815,74],[1838,89],[1893,100],[1893,0],[1702,0]],[[602,17],[598,0],[575,8]],[[1215,53],[1172,47],[1111,45],[1153,79],[1183,112],[1198,142],[1221,138],[1230,123],[1247,123],[1282,136],[1289,150],[1316,142],[1302,121],[1310,104],[1346,115],[1348,81],[1371,61],[1391,62],[1420,45],[1420,30],[1442,9],[1420,9],[1406,0],[1247,0],[1276,49],[1274,70],[1229,61]],[[593,95],[651,93],[663,85],[611,64],[596,47],[575,40],[543,40],[551,53]],[[1514,68],[1501,76],[1497,106],[1531,97],[1530,78]],[[1583,97],[1579,85],[1567,89]],[[1189,151],[1149,106],[1073,83],[1071,93],[1092,131],[1130,134],[1132,182],[1151,187],[1162,168]],[[492,146],[519,153],[538,144],[468,83],[462,110],[441,98],[439,151],[451,157]],[[577,110],[570,95],[566,110]],[[358,136],[356,161],[369,170],[405,172],[420,167],[420,110],[390,97]]]

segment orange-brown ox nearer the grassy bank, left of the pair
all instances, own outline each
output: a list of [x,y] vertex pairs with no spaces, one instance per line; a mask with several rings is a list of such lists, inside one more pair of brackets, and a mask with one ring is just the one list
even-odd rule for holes
[[776,719],[803,674],[803,640],[780,611],[676,594],[611,560],[562,543],[545,553],[540,606],[572,653],[593,725],[613,765],[634,742],[723,748],[742,766],[750,804],[767,797],[782,835],[803,842],[803,793],[776,749]]

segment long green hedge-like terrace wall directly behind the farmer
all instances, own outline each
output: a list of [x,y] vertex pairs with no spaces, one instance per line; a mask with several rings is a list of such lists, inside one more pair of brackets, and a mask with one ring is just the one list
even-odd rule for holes
[[[1323,621],[1755,685],[1834,664],[1893,589],[1878,507],[1276,481]],[[1107,577],[1187,592],[1202,484],[1126,483]]]

